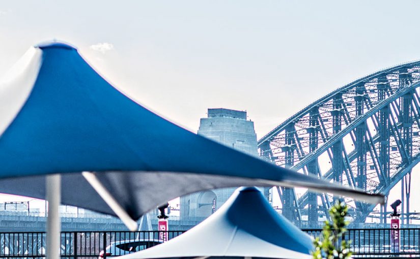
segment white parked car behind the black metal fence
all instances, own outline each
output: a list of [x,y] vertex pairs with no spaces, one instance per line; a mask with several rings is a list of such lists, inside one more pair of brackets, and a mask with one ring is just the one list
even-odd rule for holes
[[[132,252],[141,251],[149,247],[155,246],[162,243],[159,240],[153,239],[137,239],[137,240],[121,240],[112,242],[105,249],[106,258],[129,254]],[[99,253],[98,259],[104,257],[104,251]]]

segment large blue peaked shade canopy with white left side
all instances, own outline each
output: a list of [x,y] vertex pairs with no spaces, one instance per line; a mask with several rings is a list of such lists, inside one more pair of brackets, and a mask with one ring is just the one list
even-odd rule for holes
[[0,163],[0,192],[43,199],[45,175],[60,173],[63,204],[114,214],[80,175],[97,172],[133,219],[187,193],[234,186],[299,186],[383,202],[193,134],[55,42],[32,47],[0,83]]

